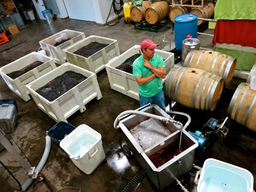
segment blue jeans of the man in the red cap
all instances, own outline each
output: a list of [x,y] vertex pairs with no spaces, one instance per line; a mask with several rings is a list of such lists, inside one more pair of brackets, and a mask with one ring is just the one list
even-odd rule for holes
[[146,98],[141,95],[139,95],[139,96],[140,96],[140,107],[142,107],[146,104],[152,103],[152,101],[154,99],[155,104],[157,104],[160,108],[162,108],[165,111],[165,94],[164,94],[163,90],[151,98]]

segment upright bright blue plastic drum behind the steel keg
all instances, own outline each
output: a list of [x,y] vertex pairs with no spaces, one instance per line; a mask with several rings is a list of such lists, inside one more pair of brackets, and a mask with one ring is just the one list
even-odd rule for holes
[[177,49],[182,50],[182,41],[186,38],[197,38],[196,14],[186,13],[174,18],[174,41]]

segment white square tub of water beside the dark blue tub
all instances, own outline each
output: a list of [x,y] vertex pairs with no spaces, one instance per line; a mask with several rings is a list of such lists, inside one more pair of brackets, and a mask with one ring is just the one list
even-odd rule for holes
[[101,134],[85,124],[78,126],[63,138],[60,148],[69,155],[74,165],[86,174],[91,174],[105,159]]

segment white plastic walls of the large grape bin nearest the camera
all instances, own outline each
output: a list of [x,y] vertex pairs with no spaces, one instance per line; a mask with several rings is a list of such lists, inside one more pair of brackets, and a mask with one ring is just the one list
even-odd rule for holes
[[[66,93],[62,94],[54,101],[48,101],[48,99],[43,98],[43,96],[36,92],[38,88],[48,84],[51,80],[66,71],[74,71],[75,73],[82,74],[87,77],[87,79],[71,88],[71,90],[66,91]],[[48,74],[34,80],[34,82],[26,85],[26,87],[34,99],[35,104],[37,104],[37,107],[56,122],[65,121],[68,123],[66,119],[77,112],[77,110],[80,110],[81,113],[86,110],[85,104],[94,98],[98,100],[102,98],[96,74],[82,69],[79,66],[72,65],[71,63],[63,63],[63,65],[60,65]]]

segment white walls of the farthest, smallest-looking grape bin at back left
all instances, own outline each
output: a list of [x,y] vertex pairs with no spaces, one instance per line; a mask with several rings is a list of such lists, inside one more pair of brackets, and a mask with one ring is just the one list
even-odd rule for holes
[[[55,39],[62,37],[62,34],[66,34],[66,37],[70,38],[70,40],[60,44],[59,46],[54,46],[54,44],[57,43]],[[62,65],[66,62],[65,53],[63,53],[63,50],[84,38],[84,32],[65,29],[39,41],[39,44],[41,48],[46,51],[46,55],[54,59],[55,63]]]

